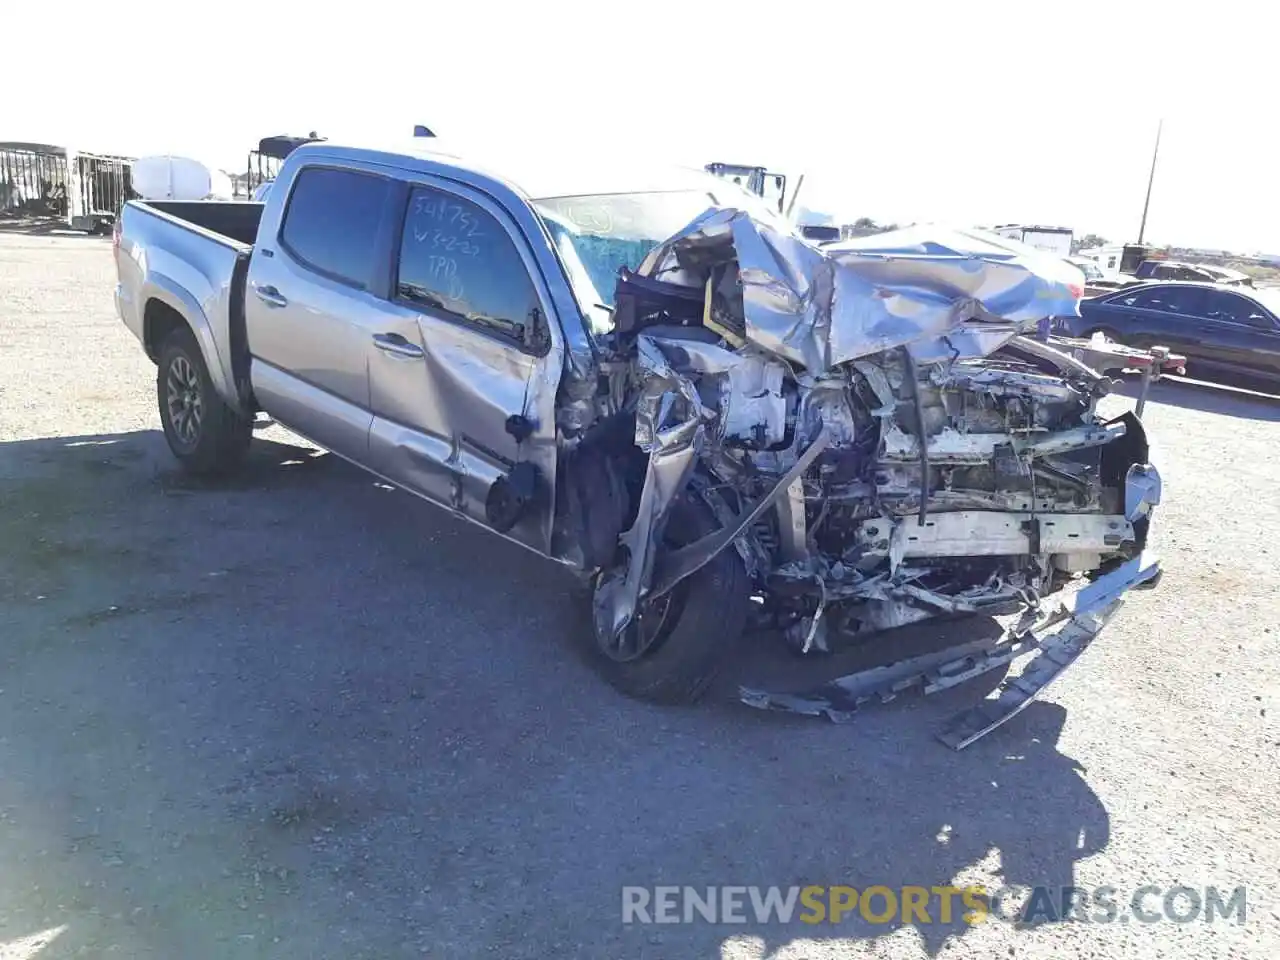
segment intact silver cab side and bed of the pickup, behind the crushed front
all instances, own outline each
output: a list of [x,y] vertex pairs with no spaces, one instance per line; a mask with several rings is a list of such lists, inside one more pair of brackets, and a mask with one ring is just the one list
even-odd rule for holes
[[[556,388],[566,356],[590,353],[557,323],[572,294],[529,207],[408,157],[302,159],[262,204],[133,202],[120,219],[119,312],[168,371],[178,460],[233,470],[264,410],[476,520],[516,461],[554,477]],[[509,536],[545,550],[550,529]]]

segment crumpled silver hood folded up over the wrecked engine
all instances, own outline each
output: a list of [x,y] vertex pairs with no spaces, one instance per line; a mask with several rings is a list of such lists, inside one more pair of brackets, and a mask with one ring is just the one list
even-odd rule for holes
[[1079,316],[1083,275],[984,232],[913,227],[814,247],[781,220],[713,207],[655,247],[644,276],[705,283],[736,259],[746,338],[822,372],[895,347],[918,362],[980,357],[1050,316]]

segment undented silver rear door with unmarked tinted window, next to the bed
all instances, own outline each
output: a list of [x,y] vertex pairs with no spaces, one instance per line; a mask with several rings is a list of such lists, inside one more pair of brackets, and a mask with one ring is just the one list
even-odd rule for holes
[[[371,324],[390,285],[394,180],[324,163],[288,186],[250,261],[253,392],[273,417],[357,463],[369,457]],[[268,210],[270,215],[270,207]]]

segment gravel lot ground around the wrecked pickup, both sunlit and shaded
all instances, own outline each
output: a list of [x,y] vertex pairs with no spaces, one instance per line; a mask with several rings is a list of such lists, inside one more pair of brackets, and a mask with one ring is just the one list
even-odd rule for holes
[[[186,480],[113,284],[108,241],[0,236],[0,960],[1280,956],[1280,401],[1157,385],[1162,584],[955,754],[982,689],[625,700],[558,571],[283,431]],[[1248,911],[621,922],[626,884],[809,883]]]

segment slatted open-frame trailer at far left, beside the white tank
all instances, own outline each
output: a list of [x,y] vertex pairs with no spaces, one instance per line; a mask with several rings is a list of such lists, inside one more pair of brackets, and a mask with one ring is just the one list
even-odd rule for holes
[[0,215],[110,233],[134,196],[132,163],[50,143],[0,142]]

